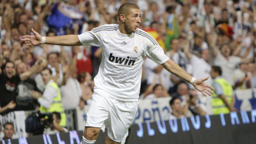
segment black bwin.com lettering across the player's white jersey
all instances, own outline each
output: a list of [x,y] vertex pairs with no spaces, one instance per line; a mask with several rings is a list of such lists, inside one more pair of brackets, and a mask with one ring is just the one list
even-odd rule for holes
[[127,58],[119,58],[117,56],[113,56],[112,53],[110,53],[109,55],[109,61],[123,64],[123,65],[134,65],[136,59],[137,59],[136,57],[130,57],[130,56],[127,56]]

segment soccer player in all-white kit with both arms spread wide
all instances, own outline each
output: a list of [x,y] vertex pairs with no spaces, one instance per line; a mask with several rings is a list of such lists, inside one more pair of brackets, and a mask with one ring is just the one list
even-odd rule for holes
[[100,129],[108,129],[106,144],[118,144],[133,123],[138,110],[142,63],[145,58],[176,76],[193,84],[203,95],[212,95],[213,87],[204,83],[207,78],[195,79],[170,60],[152,36],[137,29],[141,19],[139,7],[133,3],[122,4],[118,10],[120,24],[106,24],[80,35],[22,37],[27,45],[95,45],[102,47],[103,55],[95,88],[87,113],[81,144],[95,143]]

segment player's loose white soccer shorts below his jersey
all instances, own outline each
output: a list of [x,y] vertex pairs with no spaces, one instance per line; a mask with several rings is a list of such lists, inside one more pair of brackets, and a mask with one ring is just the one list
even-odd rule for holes
[[120,143],[134,122],[137,111],[137,102],[112,99],[107,93],[94,93],[85,127],[99,127],[103,132],[106,127],[109,138]]

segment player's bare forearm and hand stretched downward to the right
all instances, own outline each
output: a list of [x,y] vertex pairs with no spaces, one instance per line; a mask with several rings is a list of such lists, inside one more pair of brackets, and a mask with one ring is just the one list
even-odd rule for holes
[[[177,77],[184,79],[186,82],[190,82],[192,80],[192,76],[190,74],[188,74],[185,70],[183,70],[179,65],[177,65],[174,61],[172,60],[168,60],[165,63],[162,64],[163,67],[168,70],[169,72],[175,74]],[[204,96],[211,96],[214,93],[212,92],[212,90],[214,90],[214,88],[212,86],[207,85],[206,83],[204,83],[204,81],[206,81],[207,79],[209,79],[209,77],[206,78],[202,78],[202,79],[196,79],[193,82],[193,86],[200,91]]]

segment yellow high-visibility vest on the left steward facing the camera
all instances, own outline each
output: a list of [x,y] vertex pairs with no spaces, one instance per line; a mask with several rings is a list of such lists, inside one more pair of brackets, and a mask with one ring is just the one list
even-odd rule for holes
[[[56,112],[61,113],[60,126],[65,127],[67,118],[66,118],[66,114],[65,114],[65,109],[61,102],[61,92],[59,90],[59,87],[55,82],[51,82],[51,83],[47,84],[46,87],[47,86],[51,86],[52,88],[57,90],[58,95],[56,97],[54,97],[53,102],[51,103],[51,106],[49,107],[49,109],[46,109],[45,107],[40,106],[40,112],[41,113],[52,113],[52,112],[56,111]],[[42,99],[44,99],[44,98],[42,97]]]

